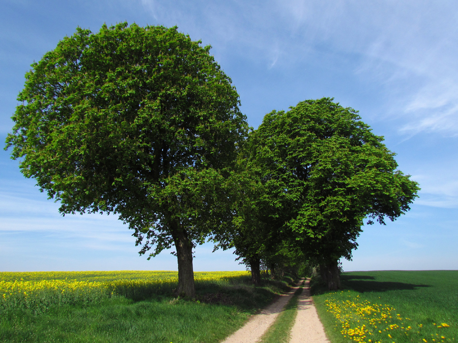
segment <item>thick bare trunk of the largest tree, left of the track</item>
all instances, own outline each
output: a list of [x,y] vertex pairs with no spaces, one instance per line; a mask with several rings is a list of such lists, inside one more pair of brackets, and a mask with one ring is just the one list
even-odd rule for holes
[[176,293],[180,296],[196,297],[193,270],[193,246],[189,241],[186,230],[173,223],[173,241],[175,242],[176,257],[178,259],[178,288]]

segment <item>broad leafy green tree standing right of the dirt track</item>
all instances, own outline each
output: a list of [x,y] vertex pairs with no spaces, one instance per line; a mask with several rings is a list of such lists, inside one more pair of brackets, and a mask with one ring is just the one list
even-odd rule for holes
[[395,220],[419,190],[360,119],[330,98],[306,100],[267,114],[250,137],[251,163],[270,201],[282,204],[270,215],[286,216],[283,237],[320,265],[330,289],[340,285],[338,260],[351,258],[363,220]]

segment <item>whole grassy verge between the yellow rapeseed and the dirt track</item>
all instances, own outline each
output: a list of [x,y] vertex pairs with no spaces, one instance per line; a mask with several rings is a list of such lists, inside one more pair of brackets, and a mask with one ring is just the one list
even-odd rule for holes
[[50,306],[39,314],[18,308],[0,317],[0,342],[219,342],[284,292],[290,281],[257,288],[248,279],[200,283],[197,299],[162,293]]

